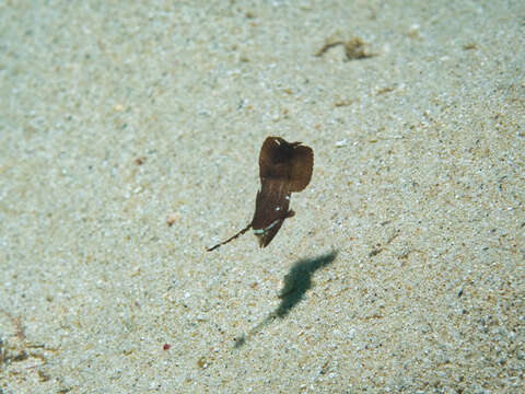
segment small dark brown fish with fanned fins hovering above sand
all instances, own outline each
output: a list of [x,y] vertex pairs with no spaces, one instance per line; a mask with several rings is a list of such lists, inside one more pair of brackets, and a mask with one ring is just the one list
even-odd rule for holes
[[267,246],[284,219],[295,215],[289,209],[290,197],[308,185],[313,169],[312,148],[301,142],[287,142],[281,137],[268,137],[260,148],[260,190],[257,192],[254,219],[238,233],[208,248],[208,252],[235,240],[249,229],[254,229],[259,246]]

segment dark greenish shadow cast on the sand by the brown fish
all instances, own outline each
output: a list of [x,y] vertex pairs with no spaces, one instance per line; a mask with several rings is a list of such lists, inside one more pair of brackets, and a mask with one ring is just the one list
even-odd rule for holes
[[287,316],[301,302],[306,291],[312,288],[312,277],[315,271],[330,265],[336,259],[336,256],[337,251],[331,251],[317,257],[303,258],[296,262],[284,276],[284,286],[279,293],[281,299],[279,306],[247,334],[237,337],[235,339],[235,348],[244,346],[249,336],[259,332],[276,317],[283,318]]

